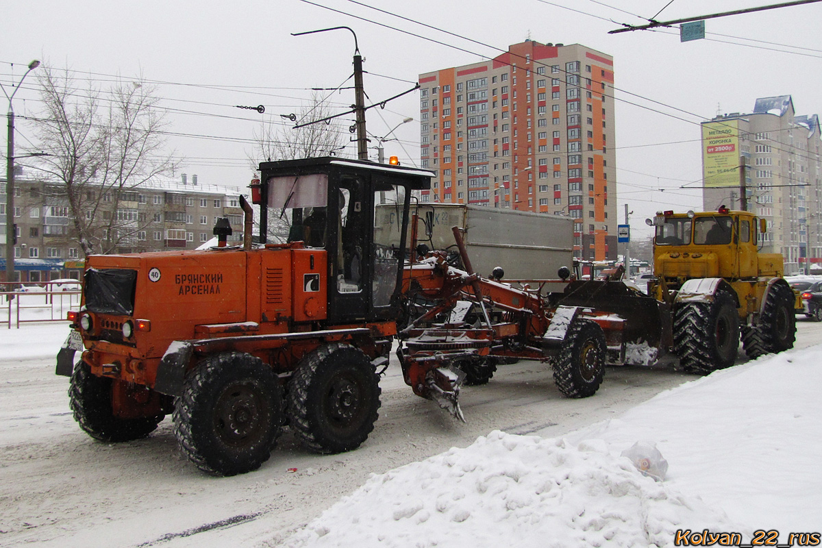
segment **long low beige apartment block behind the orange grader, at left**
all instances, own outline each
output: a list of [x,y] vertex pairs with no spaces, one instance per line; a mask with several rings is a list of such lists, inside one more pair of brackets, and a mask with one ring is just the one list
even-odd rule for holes
[[[18,168],[19,170],[20,168]],[[14,248],[16,279],[44,282],[78,278],[85,257],[69,217],[64,187],[29,173],[15,177]],[[6,181],[0,179],[0,270],[6,269]],[[85,199],[97,204],[91,243],[95,253],[141,253],[194,249],[213,237],[216,219],[227,217],[231,241],[242,240],[240,191],[201,185],[196,175],[178,180],[155,179],[149,184],[98,195],[90,187]]]

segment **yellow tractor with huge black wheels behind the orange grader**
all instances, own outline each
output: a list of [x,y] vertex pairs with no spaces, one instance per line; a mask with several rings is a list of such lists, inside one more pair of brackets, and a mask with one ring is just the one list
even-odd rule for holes
[[782,352],[796,338],[796,296],[783,258],[760,253],[767,225],[747,211],[658,212],[649,294],[673,311],[673,350],[683,367],[732,366],[739,340],[750,358]]

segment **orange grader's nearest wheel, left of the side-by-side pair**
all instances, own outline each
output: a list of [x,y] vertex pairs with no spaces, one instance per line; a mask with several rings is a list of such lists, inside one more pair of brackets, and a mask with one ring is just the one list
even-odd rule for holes
[[182,454],[205,472],[233,476],[271,455],[283,424],[279,379],[243,352],[206,357],[183,382],[174,406]]

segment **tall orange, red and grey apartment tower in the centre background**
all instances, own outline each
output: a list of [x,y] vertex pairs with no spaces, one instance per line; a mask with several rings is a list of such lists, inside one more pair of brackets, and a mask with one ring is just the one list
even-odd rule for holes
[[421,74],[421,200],[570,215],[575,256],[616,259],[613,81],[611,56],[533,40]]

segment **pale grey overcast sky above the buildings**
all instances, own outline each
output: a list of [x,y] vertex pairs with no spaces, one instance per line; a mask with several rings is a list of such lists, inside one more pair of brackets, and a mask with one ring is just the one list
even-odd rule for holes
[[[638,16],[660,11],[656,19],[670,21],[777,2],[370,2],[389,13],[364,3],[11,0],[0,19],[0,79],[3,85],[12,77],[19,81],[35,58],[96,81],[141,74],[159,82],[157,94],[175,134],[169,148],[186,158],[180,173],[197,174],[203,184],[244,187],[252,175],[252,134],[261,122],[282,121],[279,114],[308,104],[312,87],[334,89],[351,75],[348,31],[291,33],[351,27],[368,71],[367,104],[408,90],[420,73],[494,57],[527,38],[584,44],[614,58],[619,217],[623,222],[628,204],[635,235],[647,232],[644,219],[656,210],[701,209],[702,120],[750,112],[755,99],[782,94],[792,95],[798,114],[822,113],[822,2],[709,20],[708,39],[687,43],[673,29],[607,31],[620,23],[641,25]],[[16,95],[18,117],[41,107],[35,73]],[[340,111],[353,104],[352,90],[324,93]],[[375,136],[414,118],[395,132],[398,141],[386,142],[386,156],[399,155],[406,165],[419,162],[418,99],[413,92],[367,113]],[[264,115],[233,106],[258,104],[265,105]],[[28,145],[31,135],[30,125],[19,120],[16,144]],[[354,144],[347,150],[353,155]]]

